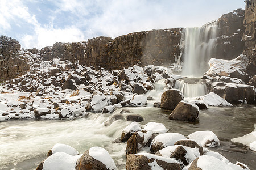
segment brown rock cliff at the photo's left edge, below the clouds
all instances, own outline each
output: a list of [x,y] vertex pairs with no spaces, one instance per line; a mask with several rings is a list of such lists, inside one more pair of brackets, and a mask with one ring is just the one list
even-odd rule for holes
[[18,41],[7,36],[0,37],[0,82],[16,78],[30,69],[26,52],[19,50]]

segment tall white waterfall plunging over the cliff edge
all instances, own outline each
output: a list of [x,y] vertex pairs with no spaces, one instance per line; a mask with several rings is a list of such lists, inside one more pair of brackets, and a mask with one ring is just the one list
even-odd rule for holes
[[185,28],[183,75],[201,76],[209,69],[208,61],[216,54],[217,21],[201,28]]

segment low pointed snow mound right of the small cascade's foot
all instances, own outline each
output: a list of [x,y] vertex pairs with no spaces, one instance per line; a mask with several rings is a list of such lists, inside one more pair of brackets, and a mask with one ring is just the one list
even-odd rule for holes
[[221,98],[219,95],[215,94],[214,92],[210,92],[207,95],[204,95],[203,97],[199,97],[199,99],[204,100],[205,103],[212,106],[232,106],[228,101]]

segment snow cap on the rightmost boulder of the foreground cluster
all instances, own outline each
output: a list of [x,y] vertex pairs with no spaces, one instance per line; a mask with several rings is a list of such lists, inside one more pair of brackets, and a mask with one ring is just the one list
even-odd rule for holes
[[[197,143],[200,143],[203,146],[215,147],[220,146],[220,140],[212,131],[205,130],[205,131],[196,131],[190,135],[188,135],[189,139],[195,140]],[[212,143],[205,144],[207,141],[215,141]]]

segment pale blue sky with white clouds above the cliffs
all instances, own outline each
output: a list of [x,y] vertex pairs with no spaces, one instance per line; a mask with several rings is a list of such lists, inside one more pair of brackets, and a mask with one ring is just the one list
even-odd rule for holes
[[0,35],[22,48],[131,32],[201,27],[245,8],[243,0],[1,0]]

